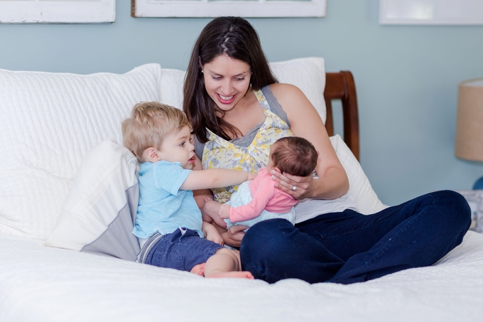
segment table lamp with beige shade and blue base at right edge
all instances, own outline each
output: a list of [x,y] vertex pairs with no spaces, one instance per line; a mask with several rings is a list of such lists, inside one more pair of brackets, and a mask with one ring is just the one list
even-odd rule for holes
[[[483,78],[458,85],[455,155],[483,161]],[[474,183],[473,189],[483,189],[483,177]]]

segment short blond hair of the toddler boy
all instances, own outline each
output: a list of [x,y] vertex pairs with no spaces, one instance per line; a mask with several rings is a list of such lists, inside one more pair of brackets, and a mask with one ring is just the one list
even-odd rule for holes
[[180,109],[159,102],[140,102],[121,124],[122,143],[143,163],[146,149],[161,149],[166,136],[189,125]]

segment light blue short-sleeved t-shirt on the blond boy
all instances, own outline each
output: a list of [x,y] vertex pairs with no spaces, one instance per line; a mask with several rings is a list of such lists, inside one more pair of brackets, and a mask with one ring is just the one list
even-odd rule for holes
[[139,204],[133,234],[149,238],[156,232],[170,234],[178,227],[196,230],[200,237],[202,217],[191,190],[180,190],[192,170],[167,161],[141,163]]

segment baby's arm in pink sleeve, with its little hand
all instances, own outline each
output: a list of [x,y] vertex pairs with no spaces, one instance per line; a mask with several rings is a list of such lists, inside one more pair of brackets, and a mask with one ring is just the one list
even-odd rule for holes
[[[273,186],[275,181],[263,180],[259,183],[259,186],[256,188],[255,193],[251,196],[250,203],[246,205],[241,205],[239,207],[229,207],[229,220],[231,222],[239,222],[244,220],[250,220],[253,218],[258,217],[262,211],[266,208],[268,201],[273,198],[275,193],[275,187]],[[223,208],[226,209],[227,205],[223,205],[222,209],[220,209],[220,217],[222,216]]]

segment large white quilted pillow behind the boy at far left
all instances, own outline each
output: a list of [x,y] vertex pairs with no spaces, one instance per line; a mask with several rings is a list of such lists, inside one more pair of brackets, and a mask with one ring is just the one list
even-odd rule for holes
[[160,91],[158,64],[123,75],[0,70],[0,233],[45,240],[82,156],[121,141],[121,120]]

